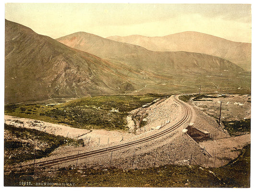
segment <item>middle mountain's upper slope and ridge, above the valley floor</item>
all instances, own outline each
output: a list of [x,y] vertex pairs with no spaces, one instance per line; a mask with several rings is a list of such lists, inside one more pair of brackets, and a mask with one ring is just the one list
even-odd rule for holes
[[[118,61],[133,68],[172,75],[190,70],[206,75],[237,74],[244,71],[232,62],[200,53],[156,52],[138,45],[112,41],[94,34],[78,32],[57,39],[59,42],[98,57]],[[229,72],[230,71],[230,72]]]

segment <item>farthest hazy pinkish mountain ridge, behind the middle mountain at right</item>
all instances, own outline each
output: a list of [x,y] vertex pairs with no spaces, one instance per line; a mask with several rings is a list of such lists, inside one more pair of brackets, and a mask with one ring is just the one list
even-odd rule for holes
[[187,51],[221,57],[251,70],[251,44],[232,42],[213,35],[183,32],[162,37],[110,36],[110,40],[140,45],[152,51]]

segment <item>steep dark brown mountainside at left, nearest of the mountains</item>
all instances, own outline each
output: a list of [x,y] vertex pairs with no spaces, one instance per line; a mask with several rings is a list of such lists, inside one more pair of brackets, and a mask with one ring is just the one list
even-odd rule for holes
[[5,103],[134,90],[116,69],[109,61],[5,21]]

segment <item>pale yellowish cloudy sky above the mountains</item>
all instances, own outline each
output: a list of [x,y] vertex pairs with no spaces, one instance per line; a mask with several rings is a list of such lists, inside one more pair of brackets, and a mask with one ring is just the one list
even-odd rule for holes
[[7,3],[5,18],[52,38],[80,31],[102,37],[196,31],[251,43],[249,4]]

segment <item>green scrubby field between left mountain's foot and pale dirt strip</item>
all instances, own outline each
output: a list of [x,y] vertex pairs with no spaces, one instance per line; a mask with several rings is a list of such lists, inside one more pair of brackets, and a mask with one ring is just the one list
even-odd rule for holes
[[160,94],[85,97],[62,104],[9,104],[5,114],[83,129],[126,130],[128,112]]

